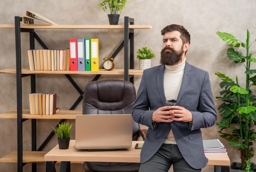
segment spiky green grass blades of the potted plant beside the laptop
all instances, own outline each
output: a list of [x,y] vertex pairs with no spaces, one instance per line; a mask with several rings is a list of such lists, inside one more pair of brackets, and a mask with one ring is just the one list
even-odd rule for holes
[[68,139],[70,137],[72,124],[69,124],[68,121],[66,123],[61,122],[61,124],[58,124],[58,126],[52,128],[52,131],[58,136],[59,139]]

